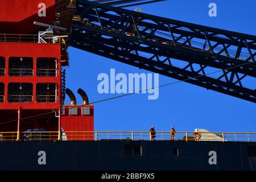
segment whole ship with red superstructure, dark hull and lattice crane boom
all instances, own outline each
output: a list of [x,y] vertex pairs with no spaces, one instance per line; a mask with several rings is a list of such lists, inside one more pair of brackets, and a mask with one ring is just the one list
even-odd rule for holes
[[94,131],[66,88],[72,46],[255,103],[256,36],[123,9],[158,1],[1,0],[1,170],[256,169],[256,133]]

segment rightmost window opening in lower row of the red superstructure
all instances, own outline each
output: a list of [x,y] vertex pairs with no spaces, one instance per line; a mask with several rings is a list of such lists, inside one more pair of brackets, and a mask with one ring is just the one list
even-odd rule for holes
[[36,84],[36,102],[57,102],[57,84]]

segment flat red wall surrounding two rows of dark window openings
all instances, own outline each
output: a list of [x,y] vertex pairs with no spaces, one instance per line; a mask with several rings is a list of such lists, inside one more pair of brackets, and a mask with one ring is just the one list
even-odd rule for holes
[[[60,109],[61,74],[60,74],[60,44],[34,44],[34,43],[0,43],[0,57],[5,57],[5,76],[0,76],[0,82],[5,84],[5,101],[0,102],[0,109]],[[30,77],[9,76],[9,57],[32,57],[34,60],[34,75]],[[59,75],[57,77],[36,76],[36,59],[38,57],[56,57],[58,59]],[[10,103],[7,101],[9,82],[28,82],[33,84],[34,100],[30,103]],[[58,102],[36,102],[36,83],[56,83],[58,86]]]

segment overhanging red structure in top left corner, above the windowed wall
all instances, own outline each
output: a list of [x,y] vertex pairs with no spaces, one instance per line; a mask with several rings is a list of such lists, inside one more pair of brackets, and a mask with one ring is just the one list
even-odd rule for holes
[[[46,4],[46,17],[39,17],[39,3]],[[34,21],[52,23],[55,20],[55,0],[1,0],[0,32],[4,34],[29,34],[38,30]]]

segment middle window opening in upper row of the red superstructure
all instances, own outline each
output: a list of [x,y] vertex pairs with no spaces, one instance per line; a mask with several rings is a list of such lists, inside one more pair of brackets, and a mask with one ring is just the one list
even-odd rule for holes
[[33,75],[32,57],[10,57],[9,75],[10,76],[32,76]]

